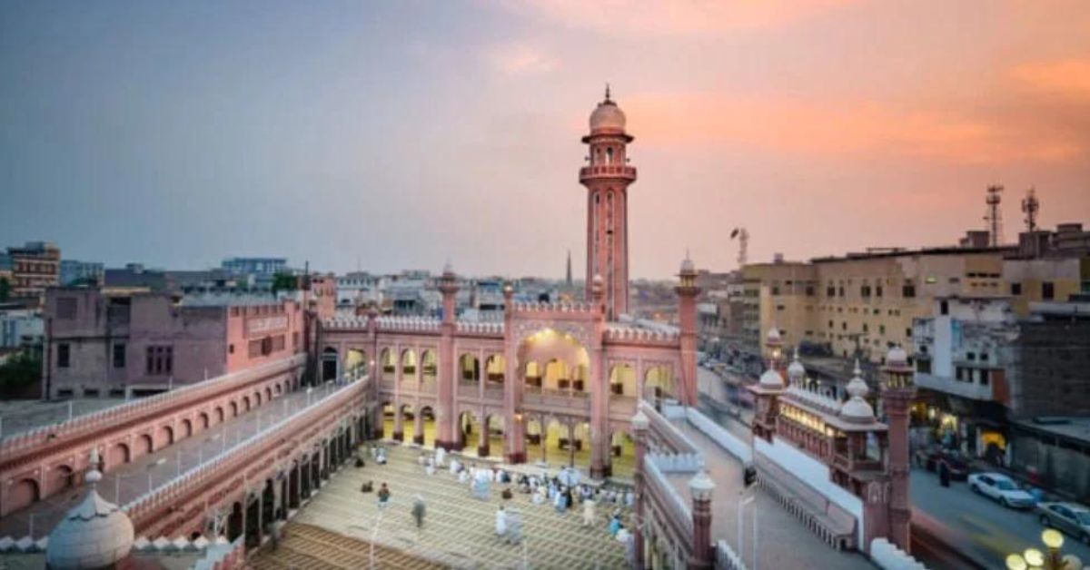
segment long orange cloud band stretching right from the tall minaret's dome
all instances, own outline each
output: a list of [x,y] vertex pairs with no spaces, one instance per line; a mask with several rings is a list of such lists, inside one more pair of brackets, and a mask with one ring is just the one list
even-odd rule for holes
[[738,142],[806,154],[917,156],[955,162],[1065,161],[1083,141],[1032,126],[872,101],[649,94],[621,101],[649,144]]

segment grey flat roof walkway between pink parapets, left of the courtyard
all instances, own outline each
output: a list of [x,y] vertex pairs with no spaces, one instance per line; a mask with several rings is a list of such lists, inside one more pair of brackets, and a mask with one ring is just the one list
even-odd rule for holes
[[[328,391],[327,388],[315,388],[310,397],[311,403],[317,403]],[[258,426],[264,430],[284,416],[306,408],[306,404],[305,390],[277,398],[269,404],[213,426],[195,437],[138,457],[131,463],[106,473],[98,484],[98,493],[111,502],[124,505],[147,493],[149,488],[165,485],[179,474],[197,466],[202,460],[208,461],[225,450],[230,450],[231,446],[255,435]],[[85,494],[84,486],[74,487],[7,516],[0,519],[0,536],[12,536],[15,539],[26,536],[31,531],[32,517],[34,536],[45,536]]]

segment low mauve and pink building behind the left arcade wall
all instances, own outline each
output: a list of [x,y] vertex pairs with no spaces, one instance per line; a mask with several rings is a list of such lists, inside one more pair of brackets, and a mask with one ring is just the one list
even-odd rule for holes
[[266,295],[47,294],[46,398],[155,392],[303,351],[302,307]]

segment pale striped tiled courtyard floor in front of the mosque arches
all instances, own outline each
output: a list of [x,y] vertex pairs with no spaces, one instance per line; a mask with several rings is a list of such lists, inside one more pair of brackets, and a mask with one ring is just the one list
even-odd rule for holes
[[[514,494],[505,501],[500,485],[493,487],[489,500],[479,500],[470,495],[469,485],[444,470],[433,476],[423,473],[416,458],[416,448],[391,446],[389,463],[378,465],[372,461],[364,469],[344,468],[324,487],[286,529],[286,544],[292,536],[310,536],[304,525],[320,527],[354,541],[338,543],[337,551],[347,550],[343,560],[320,558],[328,566],[311,568],[361,568],[362,553],[370,550],[373,537],[377,545],[399,550],[410,557],[426,559],[443,567],[453,568],[561,568],[565,570],[593,568],[622,568],[623,545],[613,539],[606,530],[606,509],[598,509],[594,526],[582,526],[581,512],[569,510],[558,514],[548,505],[533,505],[526,495]],[[377,488],[386,482],[391,490],[391,505],[379,511],[374,494],[362,494],[365,481],[374,481]],[[416,529],[410,510],[413,497],[420,494],[427,506],[424,526]],[[509,545],[494,534],[495,512],[499,505],[508,511],[518,511],[523,520],[522,545]],[[320,543],[317,538],[294,538],[295,544]],[[284,545],[281,545],[283,548]],[[294,548],[294,549],[293,549]],[[291,555],[305,554],[300,549],[313,546],[288,547]],[[295,550],[300,550],[295,553]],[[332,549],[316,548],[318,554],[332,557]],[[311,556],[318,556],[312,554]],[[351,556],[349,556],[351,555]],[[266,555],[262,555],[263,557]],[[258,568],[283,568],[271,561]],[[281,561],[282,562],[282,561]],[[407,565],[409,562],[405,562]],[[290,566],[307,568],[302,562]],[[389,566],[390,568],[399,568]],[[386,568],[377,565],[376,568]],[[404,568],[417,568],[404,566]]]

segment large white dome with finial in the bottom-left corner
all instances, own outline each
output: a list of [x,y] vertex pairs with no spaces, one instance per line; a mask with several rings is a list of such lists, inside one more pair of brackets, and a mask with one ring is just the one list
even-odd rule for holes
[[92,453],[87,495],[49,533],[46,561],[55,570],[111,568],[132,549],[133,522],[95,489],[102,474],[97,450]]

